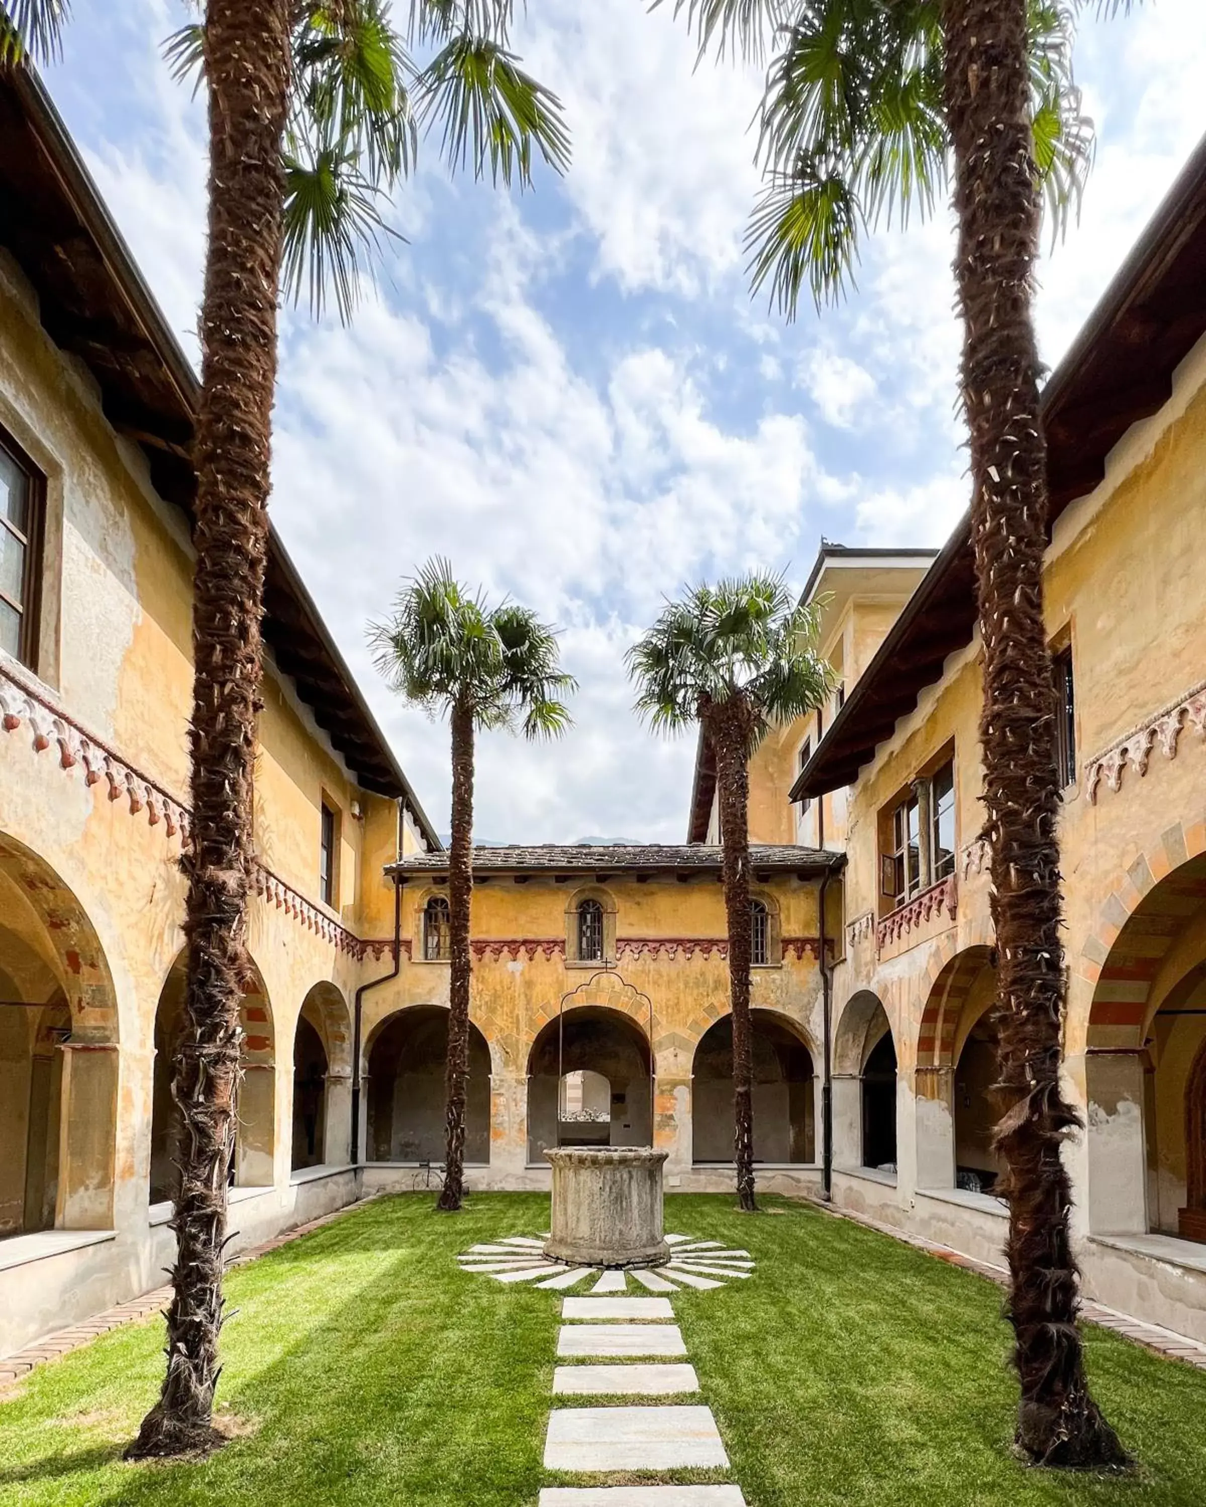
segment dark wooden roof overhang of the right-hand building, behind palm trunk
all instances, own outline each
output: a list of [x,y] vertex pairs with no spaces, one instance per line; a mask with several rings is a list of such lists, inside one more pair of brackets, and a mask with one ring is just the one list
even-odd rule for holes
[[[1123,262],[1042,395],[1048,536],[1105,478],[1107,457],[1159,411],[1206,335],[1206,139]],[[800,772],[790,799],[849,785],[975,631],[971,517],[965,514]]]

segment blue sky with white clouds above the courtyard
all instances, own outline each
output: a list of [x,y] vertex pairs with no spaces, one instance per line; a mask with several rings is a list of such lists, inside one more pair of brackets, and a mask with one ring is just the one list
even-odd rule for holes
[[[204,110],[160,56],[184,18],[75,0],[47,81],[196,357]],[[882,232],[843,306],[787,326],[743,271],[760,71],[696,69],[647,0],[529,0],[513,45],[565,105],[570,172],[449,182],[428,143],[353,326],[285,315],[271,511],[439,830],[448,728],[368,643],[433,555],[556,624],[580,683],[561,743],[481,738],[478,836],[680,842],[695,740],[638,722],[623,663],[665,597],[754,567],[800,585],[822,536],[939,546],[966,506],[950,222]],[[1206,130],[1201,0],[1085,20],[1076,71],[1097,155],[1042,268],[1052,366]]]

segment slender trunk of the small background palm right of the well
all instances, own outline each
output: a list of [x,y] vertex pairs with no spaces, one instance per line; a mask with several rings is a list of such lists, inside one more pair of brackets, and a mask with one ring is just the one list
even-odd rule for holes
[[728,995],[733,1008],[733,1163],[737,1201],[754,1201],[754,1037],[749,1023],[749,766],[740,731],[725,722],[710,729],[721,797],[721,844],[728,922]]

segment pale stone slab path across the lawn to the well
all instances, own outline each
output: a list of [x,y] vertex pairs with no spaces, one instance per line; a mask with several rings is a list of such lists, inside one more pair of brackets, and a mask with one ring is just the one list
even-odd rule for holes
[[[674,1237],[669,1237],[674,1240]],[[680,1240],[683,1237],[678,1237]],[[719,1242],[712,1242],[719,1246]],[[722,1249],[722,1248],[721,1248]],[[748,1252],[742,1252],[748,1257]],[[665,1270],[665,1269],[662,1269]],[[544,1438],[546,1471],[659,1475],[725,1469],[728,1454],[712,1409],[680,1398],[699,1392],[687,1364],[642,1356],[684,1356],[669,1298],[627,1296],[626,1276],[648,1287],[654,1272],[605,1273],[588,1298],[562,1298],[553,1397],[592,1397],[603,1406],[555,1406]],[[675,1273],[681,1278],[681,1270]],[[690,1275],[690,1273],[689,1273]],[[743,1272],[742,1275],[749,1275]],[[663,1285],[674,1291],[669,1282]],[[687,1284],[692,1285],[692,1284]],[[710,1285],[716,1285],[710,1282]],[[671,1322],[666,1322],[671,1320]],[[598,1364],[600,1361],[609,1364]],[[618,1364],[617,1364],[618,1362]],[[636,1405],[630,1398],[650,1398]],[[624,1398],[617,1403],[612,1398]],[[746,1507],[739,1486],[546,1486],[540,1507]]]

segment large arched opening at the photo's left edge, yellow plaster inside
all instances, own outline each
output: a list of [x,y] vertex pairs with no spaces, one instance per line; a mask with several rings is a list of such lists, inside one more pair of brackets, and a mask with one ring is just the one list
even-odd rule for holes
[[113,1227],[118,1002],[84,907],[0,833],[0,1237]]

